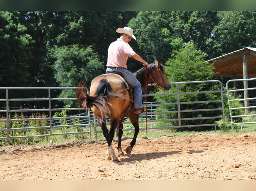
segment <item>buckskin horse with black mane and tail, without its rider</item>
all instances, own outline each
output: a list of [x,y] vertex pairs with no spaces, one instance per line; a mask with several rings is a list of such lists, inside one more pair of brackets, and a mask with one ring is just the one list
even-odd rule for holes
[[[148,74],[148,75],[146,75]],[[141,84],[142,92],[144,92],[149,83],[155,83],[162,90],[169,90],[171,85],[164,72],[161,59],[148,65],[147,69],[142,68],[134,73],[135,77]],[[146,79],[145,79],[146,76]],[[118,133],[118,153],[124,155],[121,147],[121,138],[123,135],[123,119],[128,117],[134,126],[134,137],[130,145],[125,149],[130,154],[136,143],[139,133],[139,115],[134,113],[133,107],[133,89],[118,74],[102,74],[97,76],[91,82],[90,94],[88,95],[86,82],[80,81],[76,89],[76,99],[78,103],[85,109],[91,108],[97,117],[103,135],[108,143],[107,159],[112,161],[120,160],[115,155],[112,148],[112,140],[114,138],[115,129]],[[106,124],[106,116],[110,116],[110,130],[108,131]]]

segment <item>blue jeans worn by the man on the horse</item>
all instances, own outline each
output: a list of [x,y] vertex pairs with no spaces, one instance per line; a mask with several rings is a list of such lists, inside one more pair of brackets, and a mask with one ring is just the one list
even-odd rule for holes
[[125,81],[130,84],[133,88],[134,94],[134,108],[141,108],[142,107],[142,89],[140,82],[135,78],[134,74],[125,68],[117,68],[111,69],[107,68],[107,71],[117,71],[121,72],[124,75]]

